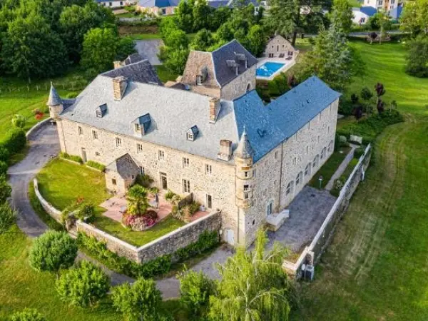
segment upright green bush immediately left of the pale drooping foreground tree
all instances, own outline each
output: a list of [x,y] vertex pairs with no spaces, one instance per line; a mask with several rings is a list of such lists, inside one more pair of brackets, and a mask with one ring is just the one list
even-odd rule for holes
[[202,316],[214,295],[215,282],[203,272],[184,271],[178,275],[180,280],[180,300],[195,316]]

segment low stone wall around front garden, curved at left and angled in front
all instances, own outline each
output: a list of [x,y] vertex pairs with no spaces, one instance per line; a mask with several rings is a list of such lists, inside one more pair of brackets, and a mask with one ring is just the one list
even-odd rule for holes
[[[54,208],[41,196],[36,178],[34,178],[34,191],[46,212],[61,223],[61,211]],[[128,260],[144,263],[161,255],[173,254],[180,248],[185,248],[191,243],[195,243],[198,241],[199,235],[205,230],[218,232],[221,228],[221,212],[210,213],[139,248],[115,238],[103,230],[98,230],[93,225],[83,223],[81,220],[76,222],[76,228],[78,232],[83,232],[88,236],[105,242],[108,250],[124,256]]]

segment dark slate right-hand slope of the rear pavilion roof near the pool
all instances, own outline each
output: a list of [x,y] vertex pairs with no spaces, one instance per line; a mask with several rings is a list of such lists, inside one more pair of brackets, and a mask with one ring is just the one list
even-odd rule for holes
[[245,61],[238,60],[236,54],[244,54],[247,58],[247,67],[250,68],[257,63],[257,58],[250,54],[250,52],[244,48],[238,41],[235,39],[230,41],[228,44],[221,46],[219,49],[213,51],[213,63],[215,69],[215,77],[217,78],[220,86],[229,83],[234,78],[236,78],[235,69],[228,66],[226,61],[235,61],[238,63],[238,73],[243,73],[246,70]]

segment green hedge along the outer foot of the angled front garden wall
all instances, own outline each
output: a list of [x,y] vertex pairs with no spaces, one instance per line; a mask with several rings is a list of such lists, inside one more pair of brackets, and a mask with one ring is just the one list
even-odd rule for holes
[[129,277],[154,277],[162,275],[171,270],[173,263],[181,263],[188,258],[204,253],[218,245],[218,233],[205,230],[199,235],[198,241],[185,248],[177,250],[172,255],[162,255],[158,258],[143,264],[138,264],[127,258],[117,255],[107,249],[105,242],[100,242],[96,238],[78,233],[78,247],[83,249],[88,255],[107,265],[107,267],[117,272],[128,275]]

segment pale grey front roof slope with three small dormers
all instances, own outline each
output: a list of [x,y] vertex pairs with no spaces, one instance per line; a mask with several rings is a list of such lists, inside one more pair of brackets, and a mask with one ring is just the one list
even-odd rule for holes
[[[191,91],[136,82],[128,84],[121,101],[115,101],[111,78],[99,75],[61,118],[217,161],[220,140],[236,145],[239,137],[232,103],[222,102],[216,123],[210,123],[209,101],[210,97]],[[94,110],[103,103],[108,112],[98,118]],[[151,126],[144,136],[136,137],[133,121],[146,113],[150,113]],[[188,141],[186,132],[195,125],[198,138]]]

